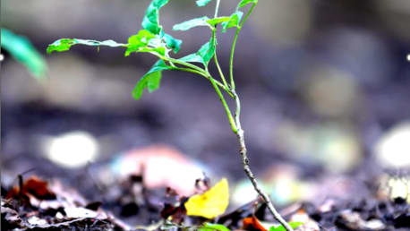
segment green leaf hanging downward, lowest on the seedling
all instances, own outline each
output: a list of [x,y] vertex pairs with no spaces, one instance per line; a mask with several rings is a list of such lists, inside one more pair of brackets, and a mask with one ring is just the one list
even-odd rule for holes
[[141,80],[138,81],[135,88],[132,90],[132,98],[138,100],[141,98],[142,92],[148,89],[149,92],[157,90],[159,88],[159,82],[161,81],[161,73],[164,70],[171,70],[173,67],[164,63],[163,60],[158,60],[148,73],[142,76]]

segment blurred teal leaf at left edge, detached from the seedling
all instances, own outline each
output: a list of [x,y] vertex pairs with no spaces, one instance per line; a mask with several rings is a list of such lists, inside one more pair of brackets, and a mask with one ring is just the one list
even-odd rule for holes
[[1,47],[23,64],[36,79],[41,80],[45,77],[47,72],[46,61],[31,45],[29,39],[2,28]]

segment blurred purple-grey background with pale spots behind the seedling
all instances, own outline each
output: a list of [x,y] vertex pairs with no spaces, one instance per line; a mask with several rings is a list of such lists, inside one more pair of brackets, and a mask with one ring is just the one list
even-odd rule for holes
[[[220,14],[232,13],[236,4],[222,1]],[[135,101],[131,91],[154,57],[83,46],[46,55],[47,45],[60,38],[126,42],[141,29],[148,5],[2,2],[2,27],[30,39],[47,61],[48,78],[36,81],[2,51],[4,185],[34,169],[92,198],[90,178],[110,184],[144,171],[143,165],[153,186],[190,193],[192,178],[203,171],[228,177],[237,204],[254,198],[208,81],[164,72],[160,89]],[[173,0],[161,9],[166,32],[184,40],[176,57],[195,52],[210,32],[172,31],[172,25],[210,16],[212,6]],[[383,169],[397,175],[410,167],[409,25],[408,0],[260,1],[238,39],[235,80],[251,167],[278,204],[366,195]],[[225,73],[233,32],[218,40]]]

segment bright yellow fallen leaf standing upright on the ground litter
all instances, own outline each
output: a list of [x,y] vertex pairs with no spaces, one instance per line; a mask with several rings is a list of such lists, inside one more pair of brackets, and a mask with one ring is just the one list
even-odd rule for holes
[[225,212],[229,204],[229,187],[226,178],[215,184],[209,191],[192,196],[185,202],[188,216],[215,218]]

